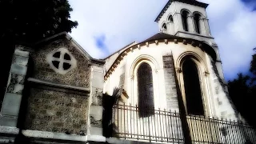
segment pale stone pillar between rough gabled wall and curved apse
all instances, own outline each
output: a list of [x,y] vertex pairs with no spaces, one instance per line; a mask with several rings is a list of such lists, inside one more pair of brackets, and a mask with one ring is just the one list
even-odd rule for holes
[[106,142],[102,134],[102,93],[104,85],[104,74],[102,66],[91,68],[91,92],[90,92],[90,114],[88,126],[88,142]]

